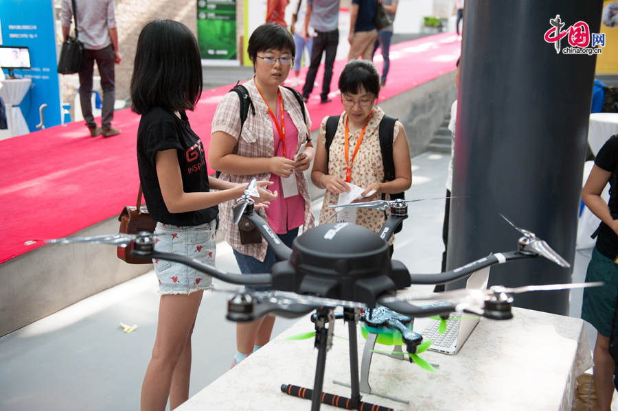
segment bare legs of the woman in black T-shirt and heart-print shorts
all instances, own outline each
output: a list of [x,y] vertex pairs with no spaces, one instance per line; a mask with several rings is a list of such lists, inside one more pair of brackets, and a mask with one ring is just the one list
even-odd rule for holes
[[[191,360],[191,346],[189,343],[187,347],[187,342],[202,301],[202,294],[202,291],[198,291],[189,295],[161,296],[155,347],[152,349],[152,358],[141,386],[141,410],[165,410],[165,403],[168,402],[172,387],[172,375],[174,379],[179,378],[179,381],[174,381],[173,384],[174,401],[179,401],[180,392],[187,392],[188,397],[190,367],[187,366],[187,362]],[[189,350],[188,355],[184,353],[185,349]],[[177,365],[183,369],[176,372]],[[186,388],[181,385],[186,385]],[[170,406],[174,408],[177,404],[173,405],[170,401]]]

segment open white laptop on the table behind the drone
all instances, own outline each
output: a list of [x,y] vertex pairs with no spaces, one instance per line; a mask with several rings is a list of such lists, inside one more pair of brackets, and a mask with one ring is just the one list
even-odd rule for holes
[[[490,267],[481,268],[474,272],[466,282],[466,288],[485,290],[489,279]],[[465,314],[464,318],[474,317],[474,314]],[[451,313],[450,318],[461,318],[461,313]],[[431,318],[415,318],[414,331],[423,336],[423,340],[433,340],[429,349],[439,353],[454,355],[459,352],[464,342],[472,333],[480,318],[450,320],[446,322],[446,333],[440,334],[438,327],[440,322]]]

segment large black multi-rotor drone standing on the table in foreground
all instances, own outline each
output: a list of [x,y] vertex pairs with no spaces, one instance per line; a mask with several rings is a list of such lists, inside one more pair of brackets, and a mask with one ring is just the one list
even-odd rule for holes
[[[404,264],[391,260],[389,237],[408,217],[407,202],[417,200],[378,200],[365,203],[342,204],[336,207],[363,207],[390,210],[384,226],[376,234],[367,228],[349,223],[323,224],[299,235],[293,248],[288,248],[277,237],[268,223],[255,213],[253,197],[258,197],[255,178],[247,185],[244,194],[233,205],[233,220],[236,224],[248,220],[262,234],[268,245],[283,261],[275,263],[271,273],[233,274],[207,266],[200,261],[174,253],[162,253],[155,247],[155,235],[103,235],[95,237],[68,237],[45,240],[48,243],[93,242],[127,247],[135,257],[163,259],[183,263],[216,279],[235,285],[270,285],[271,291],[235,292],[228,301],[227,319],[238,322],[256,320],[265,314],[295,318],[314,312],[314,347],[318,349],[317,366],[312,389],[284,384],[288,395],[311,399],[312,411],[319,410],[321,403],[356,410],[390,410],[361,401],[358,375],[358,352],[356,324],[361,320],[371,326],[376,307],[386,307],[400,316],[397,321],[386,320],[382,325],[394,327],[402,336],[411,360],[426,349],[420,334],[411,331],[407,318],[448,316],[451,312],[468,312],[494,320],[512,318],[514,302],[512,294],[536,290],[564,290],[577,287],[602,285],[602,283],[531,285],[506,288],[492,286],[489,290],[453,290],[399,297],[398,290],[413,284],[442,284],[463,279],[470,274],[494,264],[517,259],[545,257],[562,267],[569,263],[534,233],[519,228],[502,216],[523,237],[517,249],[506,253],[492,253],[487,257],[438,274],[411,274]],[[439,304],[426,304],[431,302]],[[418,303],[426,302],[424,305]],[[335,314],[343,307],[343,314]],[[372,310],[373,309],[373,310]],[[379,308],[378,308],[379,310]],[[362,312],[362,314],[361,314]],[[348,325],[350,342],[350,387],[351,397],[345,398],[323,392],[326,353],[332,347],[335,318],[343,318]],[[377,316],[376,316],[377,318]],[[403,320],[403,324],[401,324]],[[377,324],[376,324],[377,325]],[[428,347],[428,346],[427,346]],[[402,353],[403,355],[403,353]],[[368,371],[368,370],[367,370]],[[367,390],[363,390],[367,392]]]

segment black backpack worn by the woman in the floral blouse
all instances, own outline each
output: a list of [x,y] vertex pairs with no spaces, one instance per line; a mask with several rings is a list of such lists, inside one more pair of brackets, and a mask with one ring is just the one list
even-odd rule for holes
[[[328,120],[326,120],[326,137],[324,142],[326,145],[326,169],[328,169],[328,149],[330,148],[330,143],[332,143],[332,139],[337,130],[339,117],[341,116],[334,115],[328,117]],[[384,167],[384,181],[382,181],[382,183],[395,180],[395,163],[393,163],[393,129],[395,128],[395,121],[397,121],[395,117],[384,115],[378,127],[380,151],[382,152],[382,167]],[[401,198],[403,200],[405,198],[403,192],[391,194],[390,196],[391,200],[395,200],[396,198]],[[382,200],[385,198],[385,193],[382,193]]]

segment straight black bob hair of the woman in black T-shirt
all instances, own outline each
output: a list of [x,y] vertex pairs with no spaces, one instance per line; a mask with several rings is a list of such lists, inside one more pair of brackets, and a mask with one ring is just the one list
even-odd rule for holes
[[137,39],[131,75],[133,111],[193,110],[202,85],[200,50],[191,30],[172,20],[146,24]]

